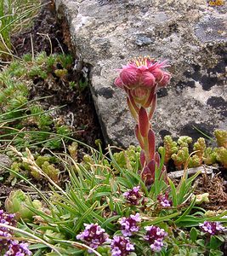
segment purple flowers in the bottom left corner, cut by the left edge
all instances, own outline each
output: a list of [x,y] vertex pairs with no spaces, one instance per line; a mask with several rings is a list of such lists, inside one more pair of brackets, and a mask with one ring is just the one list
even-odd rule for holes
[[[16,226],[14,214],[9,214],[0,210],[0,224]],[[12,239],[13,231],[0,226],[0,253],[3,256],[30,256],[32,253],[28,249],[28,243],[19,242]]]

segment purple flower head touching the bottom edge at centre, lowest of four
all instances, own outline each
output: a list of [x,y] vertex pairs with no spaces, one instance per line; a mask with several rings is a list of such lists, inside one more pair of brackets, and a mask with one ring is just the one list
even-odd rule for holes
[[114,236],[111,241],[111,256],[127,256],[134,250],[128,237]]

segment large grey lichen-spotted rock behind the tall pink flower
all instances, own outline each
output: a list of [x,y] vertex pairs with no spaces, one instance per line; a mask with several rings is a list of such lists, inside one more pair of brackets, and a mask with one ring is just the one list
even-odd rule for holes
[[200,137],[226,129],[226,3],[204,0],[56,0],[76,54],[91,68],[95,107],[107,143],[136,143],[126,96],[114,85],[132,57],[168,59],[173,79],[158,92],[157,143],[166,134]]

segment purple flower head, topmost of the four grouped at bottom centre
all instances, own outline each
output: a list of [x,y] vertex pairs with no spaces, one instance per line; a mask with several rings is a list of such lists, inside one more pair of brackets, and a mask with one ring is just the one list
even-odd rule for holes
[[133,232],[139,231],[139,226],[137,225],[141,221],[139,213],[135,215],[131,214],[128,218],[121,218],[119,223],[122,226],[122,235],[123,236],[132,236]]

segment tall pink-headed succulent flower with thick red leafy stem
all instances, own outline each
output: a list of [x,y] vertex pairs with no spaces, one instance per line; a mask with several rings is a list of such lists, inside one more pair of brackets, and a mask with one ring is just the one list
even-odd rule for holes
[[[150,120],[156,110],[156,90],[166,87],[171,78],[164,70],[165,67],[167,61],[155,61],[149,56],[139,57],[123,66],[115,80],[116,86],[126,91],[128,108],[137,122],[135,135],[142,148],[141,177],[147,186],[153,183],[156,167],[160,166],[155,133]],[[162,171],[164,172],[164,169]]]

